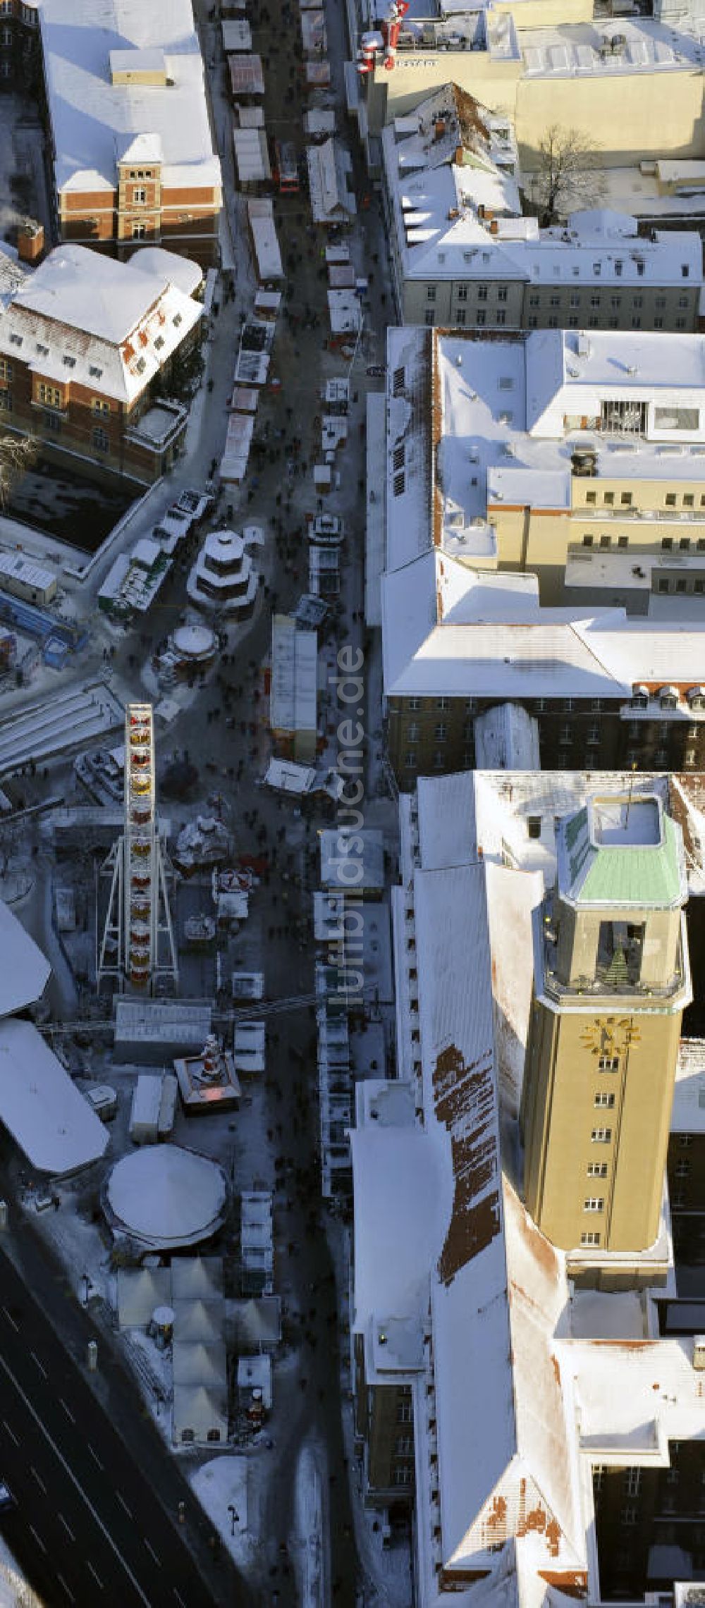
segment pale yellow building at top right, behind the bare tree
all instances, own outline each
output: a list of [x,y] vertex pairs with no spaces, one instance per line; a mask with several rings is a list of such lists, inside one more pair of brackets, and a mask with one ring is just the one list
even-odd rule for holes
[[681,24],[676,32],[650,18],[560,11],[536,0],[418,19],[402,29],[393,69],[385,69],[380,51],[361,80],[362,137],[378,135],[452,80],[510,119],[526,170],[547,124],[575,129],[605,167],[649,156],[703,156],[697,31]]

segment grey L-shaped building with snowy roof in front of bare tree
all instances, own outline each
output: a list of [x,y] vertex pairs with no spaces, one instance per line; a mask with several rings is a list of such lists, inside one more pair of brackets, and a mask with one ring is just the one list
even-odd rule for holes
[[[394,294],[406,323],[697,330],[697,230],[650,230],[602,207],[539,228],[522,215],[507,117],[457,84],[381,135]],[[599,175],[596,190],[599,190]]]

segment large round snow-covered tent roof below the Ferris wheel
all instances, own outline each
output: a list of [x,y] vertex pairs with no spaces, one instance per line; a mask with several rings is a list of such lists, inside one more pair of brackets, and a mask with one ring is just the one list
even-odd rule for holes
[[198,1245],[222,1222],[225,1172],[177,1145],[143,1145],[108,1179],[106,1204],[116,1229],[146,1245]]

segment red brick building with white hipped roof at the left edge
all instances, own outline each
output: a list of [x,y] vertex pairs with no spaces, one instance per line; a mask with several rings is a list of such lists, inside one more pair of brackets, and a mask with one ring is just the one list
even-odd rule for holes
[[174,252],[116,262],[60,246],[21,277],[10,259],[0,318],[0,418],[127,479],[150,484],[179,457],[188,410],[169,373],[198,343],[203,273]]

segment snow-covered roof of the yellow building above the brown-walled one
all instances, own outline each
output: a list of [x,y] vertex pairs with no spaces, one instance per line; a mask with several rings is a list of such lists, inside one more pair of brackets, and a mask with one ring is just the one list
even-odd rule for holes
[[[568,511],[576,447],[594,452],[597,482],[625,465],[629,479],[702,478],[702,334],[390,328],[386,367],[388,569],[433,544],[465,563],[493,560],[491,516],[504,507]],[[641,433],[602,431],[602,407],[631,399]],[[681,428],[676,408],[692,423]]]

